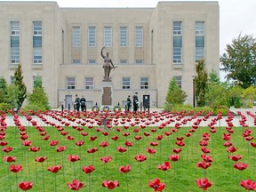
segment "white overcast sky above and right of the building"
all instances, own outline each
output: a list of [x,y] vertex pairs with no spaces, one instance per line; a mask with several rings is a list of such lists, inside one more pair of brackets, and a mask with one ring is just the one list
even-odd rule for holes
[[[12,1],[12,0],[9,0]],[[17,1],[17,0],[13,0]],[[20,0],[18,0],[20,1]],[[33,1],[33,0],[27,0]],[[34,0],[45,1],[45,0]],[[52,0],[54,1],[54,0]],[[60,7],[156,7],[157,0],[55,0]],[[167,1],[167,0],[160,0]],[[184,2],[184,0],[175,0]],[[196,0],[186,0],[196,1]],[[210,1],[210,0],[204,0]],[[214,0],[213,0],[214,1]],[[239,34],[256,38],[256,0],[215,0],[220,5],[220,55]],[[220,72],[220,80],[225,74]]]

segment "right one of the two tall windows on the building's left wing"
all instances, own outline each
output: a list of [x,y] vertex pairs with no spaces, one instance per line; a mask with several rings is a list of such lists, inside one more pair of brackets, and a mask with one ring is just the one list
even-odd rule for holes
[[33,63],[42,64],[42,22],[33,22]]

